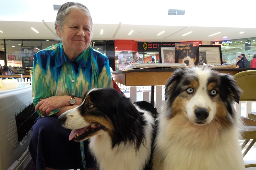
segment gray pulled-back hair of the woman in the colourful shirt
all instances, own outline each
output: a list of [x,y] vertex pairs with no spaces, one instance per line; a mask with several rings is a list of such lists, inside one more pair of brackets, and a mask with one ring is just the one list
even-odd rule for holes
[[[76,3],[75,2],[66,2],[58,10],[56,20],[54,23],[55,30],[56,30],[56,25],[58,25],[59,30],[62,31],[62,27],[63,27],[63,24],[66,22],[67,16],[73,10],[79,10],[81,12],[84,12],[84,14],[90,18],[91,29],[92,29],[93,20],[91,18],[91,14],[90,14],[90,11],[88,10],[88,8],[78,2],[76,2]],[[56,34],[58,37],[57,40],[61,42],[61,38],[58,36],[57,30],[56,30]]]

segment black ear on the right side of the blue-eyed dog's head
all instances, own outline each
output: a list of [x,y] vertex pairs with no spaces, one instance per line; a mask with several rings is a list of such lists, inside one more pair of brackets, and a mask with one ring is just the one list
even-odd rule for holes
[[[239,103],[240,95],[242,90],[237,85],[234,77],[229,74],[221,74],[221,89],[225,89],[226,95],[221,95],[221,97],[228,97],[231,100]],[[222,99],[224,101],[224,99]],[[229,100],[230,101],[230,100]]]

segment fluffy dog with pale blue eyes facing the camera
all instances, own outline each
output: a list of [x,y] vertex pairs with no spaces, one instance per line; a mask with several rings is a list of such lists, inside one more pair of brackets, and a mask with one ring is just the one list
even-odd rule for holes
[[231,75],[177,69],[167,81],[153,152],[154,170],[241,170],[241,90]]

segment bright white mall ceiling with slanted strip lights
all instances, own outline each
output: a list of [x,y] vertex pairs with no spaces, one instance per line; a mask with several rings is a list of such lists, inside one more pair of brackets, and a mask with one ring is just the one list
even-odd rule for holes
[[[0,6],[0,39],[55,39],[53,4],[63,0],[5,1]],[[250,0],[236,1],[86,1],[93,18],[93,40],[151,42],[222,41],[256,37]],[[169,9],[185,15],[168,15]],[[31,27],[39,33],[34,32]],[[101,29],[103,34],[101,35]],[[128,33],[134,30],[131,35]],[[165,31],[161,35],[158,33]],[[182,36],[192,31],[192,33]],[[217,35],[211,34],[221,32]],[[239,32],[244,32],[240,34]],[[223,38],[227,36],[227,38]]]

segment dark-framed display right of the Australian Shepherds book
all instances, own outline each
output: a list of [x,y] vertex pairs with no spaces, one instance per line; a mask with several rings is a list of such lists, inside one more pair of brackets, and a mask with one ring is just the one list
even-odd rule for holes
[[222,64],[220,45],[199,45],[199,66]]

